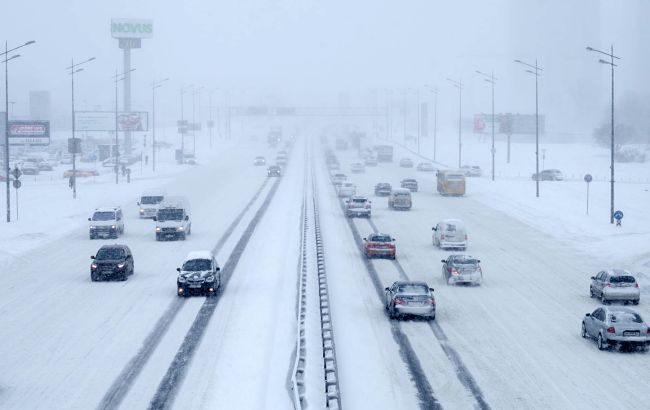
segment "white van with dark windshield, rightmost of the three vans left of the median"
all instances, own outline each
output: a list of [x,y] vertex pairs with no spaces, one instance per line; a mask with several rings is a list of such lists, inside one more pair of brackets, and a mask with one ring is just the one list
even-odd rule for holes
[[156,222],[156,240],[185,240],[192,233],[190,205],[184,197],[167,197],[158,206],[153,218]]

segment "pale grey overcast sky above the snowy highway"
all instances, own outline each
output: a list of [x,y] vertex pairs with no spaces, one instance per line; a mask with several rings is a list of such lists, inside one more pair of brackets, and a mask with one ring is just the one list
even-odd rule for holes
[[[54,114],[65,113],[65,67],[91,56],[97,60],[75,77],[79,109],[112,109],[122,52],[110,20],[124,17],[154,22],[154,38],[133,51],[133,108],[150,110],[151,81],[169,77],[157,94],[166,118],[179,116],[187,84],[228,89],[241,103],[287,105],[336,104],[342,90],[364,104],[373,92],[382,99],[387,90],[431,84],[440,90],[441,123],[452,124],[457,92],[447,77],[466,84],[467,113],[489,110],[489,84],[477,69],[495,71],[498,112],[532,113],[534,80],[513,63],[519,58],[544,69],[548,128],[573,132],[591,130],[609,101],[607,66],[585,46],[613,43],[623,57],[617,94],[646,93],[649,10],[643,0],[22,0],[5,6],[0,39],[10,48],[37,41],[9,63],[17,116],[28,113],[29,90],[50,90]],[[424,89],[421,96],[431,97]]]

